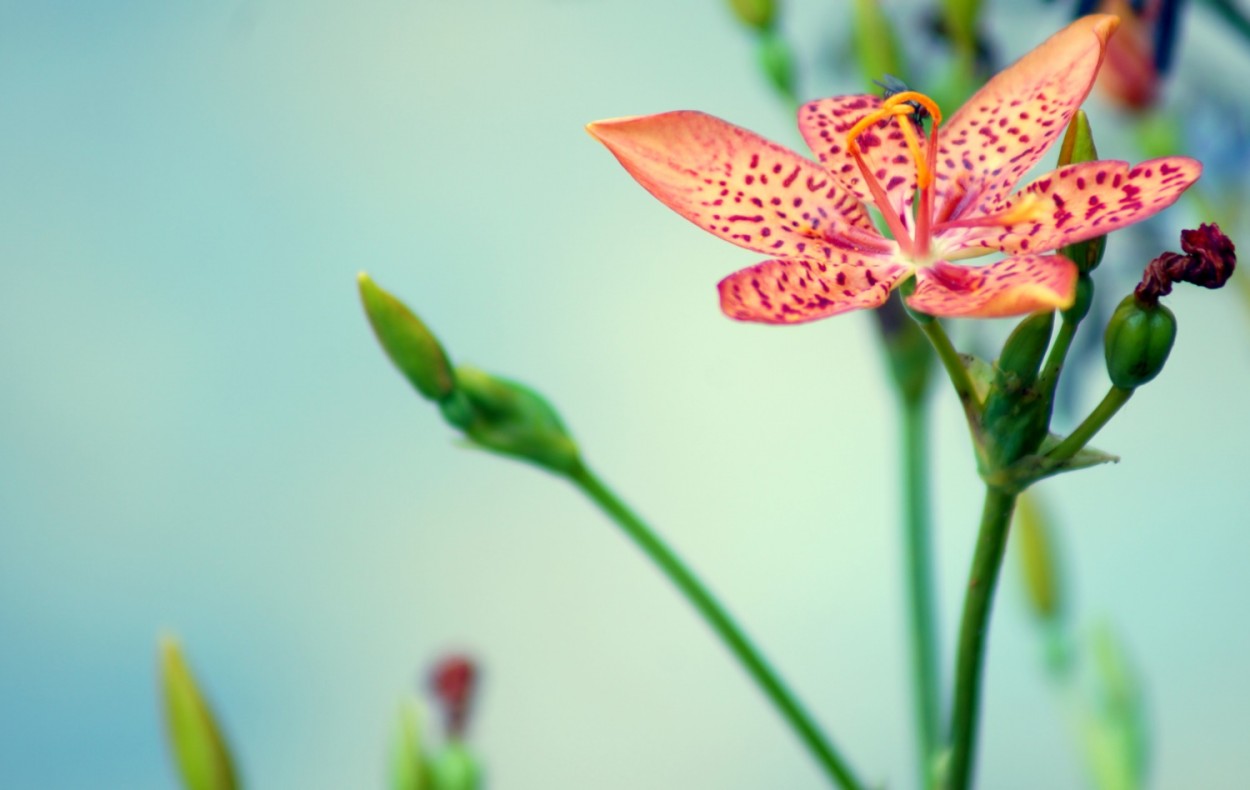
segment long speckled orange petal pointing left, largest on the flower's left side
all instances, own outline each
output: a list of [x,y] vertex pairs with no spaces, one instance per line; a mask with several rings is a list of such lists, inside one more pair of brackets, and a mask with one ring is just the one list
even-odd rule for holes
[[586,130],[670,209],[749,250],[828,259],[851,229],[879,239],[859,200],[820,165],[719,118],[664,112]]

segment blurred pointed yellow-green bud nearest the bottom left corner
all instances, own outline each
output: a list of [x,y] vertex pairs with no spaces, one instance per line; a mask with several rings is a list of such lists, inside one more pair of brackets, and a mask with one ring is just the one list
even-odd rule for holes
[[235,790],[239,784],[230,749],[172,636],[160,639],[158,661],[165,729],[182,786],[186,790]]

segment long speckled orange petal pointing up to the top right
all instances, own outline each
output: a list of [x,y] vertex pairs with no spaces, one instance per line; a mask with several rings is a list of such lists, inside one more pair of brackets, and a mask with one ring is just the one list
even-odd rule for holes
[[1064,132],[1119,19],[1084,16],[1000,71],[939,130],[939,220],[1000,202]]

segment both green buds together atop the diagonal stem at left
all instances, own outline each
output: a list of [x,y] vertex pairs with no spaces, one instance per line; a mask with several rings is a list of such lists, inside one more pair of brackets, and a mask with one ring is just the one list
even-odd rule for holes
[[391,362],[474,446],[562,475],[580,468],[578,445],[541,395],[476,368],[452,366],[434,332],[404,302],[364,272],[358,282],[365,314]]

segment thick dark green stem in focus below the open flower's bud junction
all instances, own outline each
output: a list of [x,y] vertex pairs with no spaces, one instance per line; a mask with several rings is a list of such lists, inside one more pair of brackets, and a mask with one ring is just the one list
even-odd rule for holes
[[1016,495],[994,486],[985,488],[981,531],[968,579],[964,618],[959,626],[959,655],[955,660],[955,700],[950,720],[950,766],[946,790],[968,790],[976,758],[976,726],[985,669],[985,642],[989,635],[994,589],[1002,569],[1008,528]]

